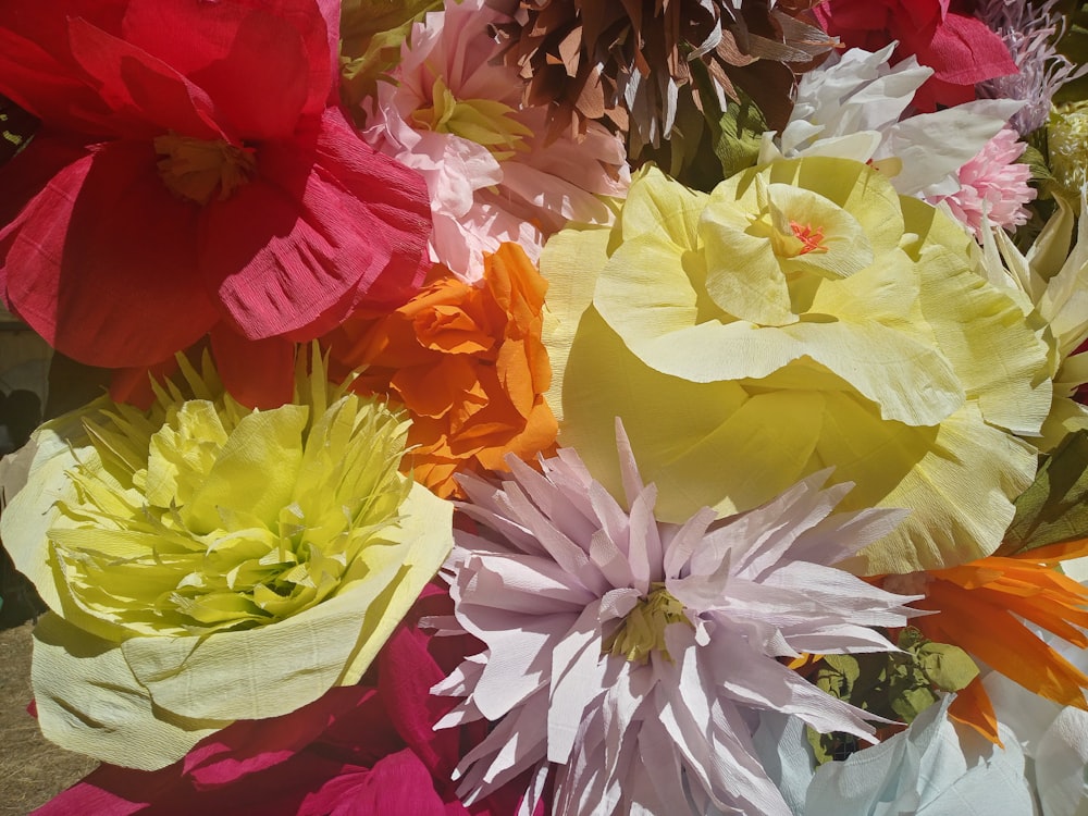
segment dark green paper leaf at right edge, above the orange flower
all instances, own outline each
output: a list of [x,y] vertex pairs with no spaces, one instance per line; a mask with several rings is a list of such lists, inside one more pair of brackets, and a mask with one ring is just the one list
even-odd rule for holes
[[1015,505],[1016,515],[996,555],[1019,555],[1088,536],[1088,431],[1062,440]]

